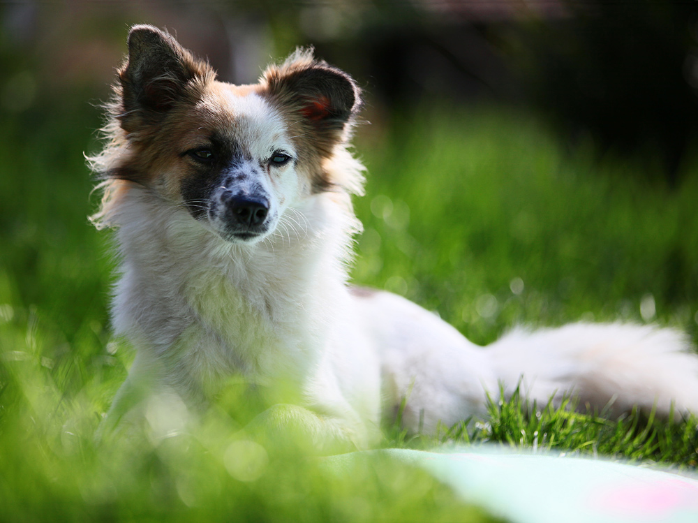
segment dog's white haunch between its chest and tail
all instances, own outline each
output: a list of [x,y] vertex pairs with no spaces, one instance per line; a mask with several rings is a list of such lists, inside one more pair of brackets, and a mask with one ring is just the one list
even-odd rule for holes
[[486,351],[403,297],[355,296],[380,353],[386,422],[401,408],[410,432],[433,433],[439,423],[487,414],[486,391],[496,392],[497,380]]

